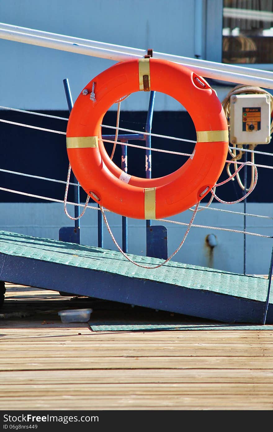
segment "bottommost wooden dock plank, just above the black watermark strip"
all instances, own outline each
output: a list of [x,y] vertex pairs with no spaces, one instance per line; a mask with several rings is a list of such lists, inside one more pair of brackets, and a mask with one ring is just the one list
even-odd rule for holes
[[126,396],[66,396],[52,397],[13,397],[1,399],[2,409],[26,410],[272,410],[273,402],[267,395],[258,398],[242,395],[131,395]]

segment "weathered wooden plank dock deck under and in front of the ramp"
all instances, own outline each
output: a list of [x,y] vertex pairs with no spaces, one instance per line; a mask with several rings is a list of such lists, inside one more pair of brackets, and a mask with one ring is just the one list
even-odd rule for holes
[[91,300],[6,285],[41,314],[0,319],[0,410],[273,410],[272,329],[93,332],[57,315]]

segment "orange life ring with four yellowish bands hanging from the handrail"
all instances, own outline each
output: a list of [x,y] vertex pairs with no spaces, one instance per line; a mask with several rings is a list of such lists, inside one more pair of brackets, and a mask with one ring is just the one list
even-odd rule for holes
[[[88,95],[78,96],[69,116],[67,153],[79,183],[102,206],[135,219],[160,219],[187,210],[217,182],[228,152],[228,126],[216,93],[204,79],[179,64],[150,58],[115,64],[85,89]],[[124,175],[100,140],[100,124],[110,106],[139,90],[172,96],[195,124],[193,156],[161,178]]]

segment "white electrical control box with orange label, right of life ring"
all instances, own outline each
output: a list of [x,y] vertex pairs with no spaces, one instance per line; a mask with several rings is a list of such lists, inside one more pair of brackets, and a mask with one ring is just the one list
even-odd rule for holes
[[270,143],[270,96],[232,95],[229,99],[229,141]]

